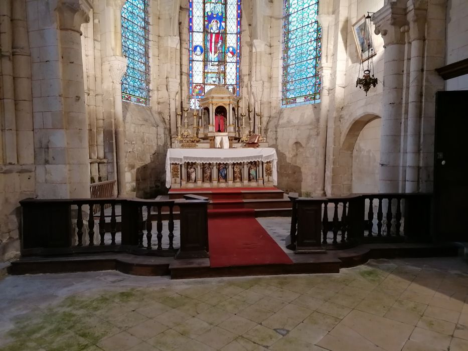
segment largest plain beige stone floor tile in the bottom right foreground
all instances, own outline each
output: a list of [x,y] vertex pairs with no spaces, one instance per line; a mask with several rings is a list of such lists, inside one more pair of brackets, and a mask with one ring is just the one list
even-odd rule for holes
[[347,326],[375,345],[389,351],[399,351],[409,338],[413,326],[358,310],[350,312],[330,332],[339,326]]

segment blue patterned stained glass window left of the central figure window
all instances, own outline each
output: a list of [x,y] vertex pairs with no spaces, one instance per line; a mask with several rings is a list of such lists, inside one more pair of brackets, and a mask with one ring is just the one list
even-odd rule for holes
[[122,100],[149,102],[148,0],[127,0],[122,7],[122,52],[127,70],[122,77]]

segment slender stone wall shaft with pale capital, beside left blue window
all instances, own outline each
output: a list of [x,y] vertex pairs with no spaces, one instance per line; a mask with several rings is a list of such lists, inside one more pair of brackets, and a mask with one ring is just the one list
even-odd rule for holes
[[110,56],[103,60],[103,70],[108,69],[112,82],[112,95],[114,101],[114,154],[116,162],[114,162],[115,174],[117,174],[117,189],[118,196],[124,197],[126,194],[125,185],[125,130],[123,125],[122,112],[122,84],[121,80],[127,68],[127,59],[122,56]]

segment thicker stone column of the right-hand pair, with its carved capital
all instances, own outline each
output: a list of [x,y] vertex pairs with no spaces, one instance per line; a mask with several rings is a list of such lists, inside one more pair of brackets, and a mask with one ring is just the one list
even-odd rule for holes
[[397,0],[387,3],[372,16],[372,22],[375,33],[382,35],[385,48],[379,191],[398,193],[402,191],[400,144],[406,2]]

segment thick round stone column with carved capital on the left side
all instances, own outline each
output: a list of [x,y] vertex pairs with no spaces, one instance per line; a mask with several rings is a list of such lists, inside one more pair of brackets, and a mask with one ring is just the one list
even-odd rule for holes
[[89,21],[88,13],[91,8],[89,0],[60,0],[56,8],[60,30],[63,126],[67,159],[62,171],[68,168],[67,184],[70,198],[89,197],[88,121],[80,27]]

